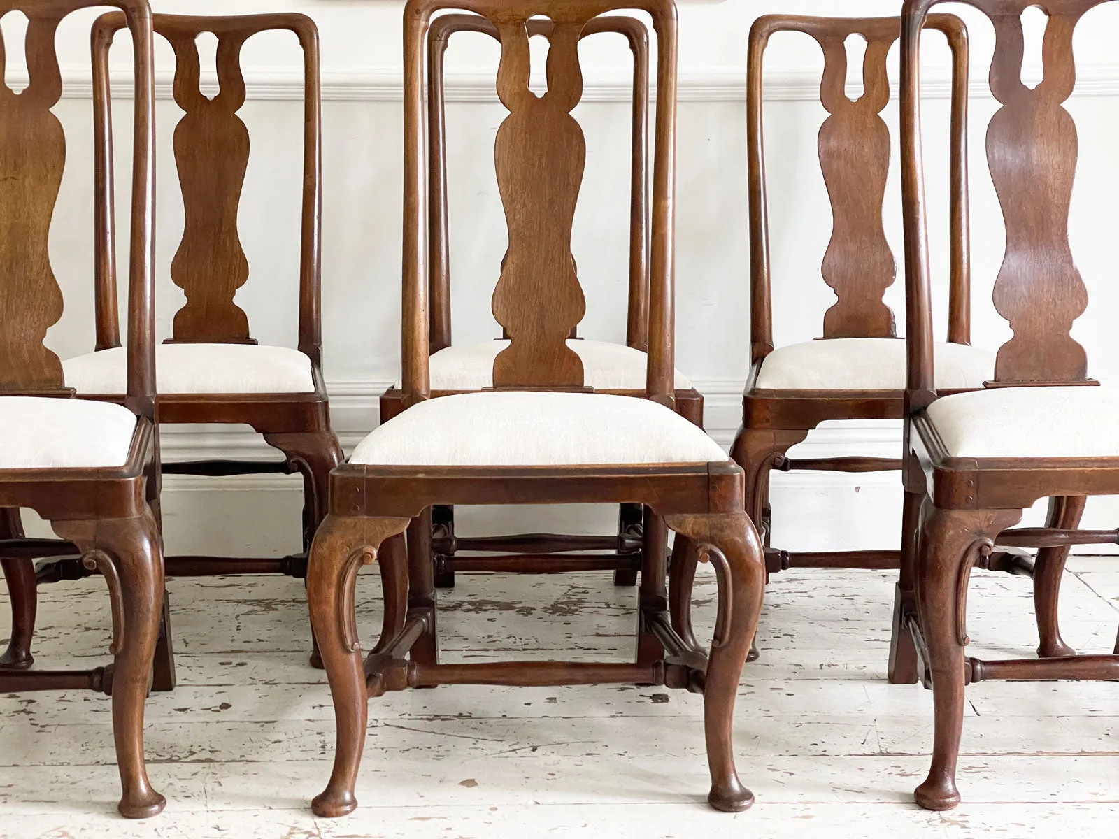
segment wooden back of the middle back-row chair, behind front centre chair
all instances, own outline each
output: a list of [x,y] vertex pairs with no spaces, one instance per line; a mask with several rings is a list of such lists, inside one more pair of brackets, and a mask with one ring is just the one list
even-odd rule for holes
[[[551,39],[553,21],[532,18],[528,36]],[[479,15],[440,15],[427,32],[427,206],[431,351],[451,346],[451,285],[446,211],[446,134],[443,57],[451,35],[480,32],[498,39],[497,27]],[[633,115],[630,160],[630,254],[626,345],[649,348],[649,34],[640,20],[622,15],[592,19],[582,37],[617,32],[633,54]],[[508,337],[508,336],[505,336]],[[572,330],[575,337],[575,330]]]

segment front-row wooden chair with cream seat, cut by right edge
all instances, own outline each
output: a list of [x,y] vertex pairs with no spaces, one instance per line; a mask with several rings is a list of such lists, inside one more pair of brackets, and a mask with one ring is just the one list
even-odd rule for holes
[[[916,802],[949,810],[960,796],[956,762],[963,689],[988,679],[1119,680],[1119,654],[984,661],[965,656],[966,607],[972,567],[1002,546],[1042,546],[1043,566],[1063,566],[1070,545],[1115,544],[1117,531],[1075,525],[1012,528],[1045,497],[1079,511],[1087,496],[1119,494],[1119,396],[1088,378],[1084,348],[1071,336],[1088,307],[1069,245],[1069,206],[1076,170],[1076,126],[1063,103],[1075,79],[1073,35],[1101,0],[1049,0],[1044,78],[1022,79],[1022,13],[1034,0],[971,0],[995,27],[990,92],[999,109],[987,130],[987,162],[1003,209],[1006,254],[994,301],[1014,337],[997,356],[982,389],[943,395],[938,388],[925,233],[921,152],[920,39],[938,0],[906,0],[902,22],[902,195],[905,228],[908,375],[905,492],[920,508],[915,610],[899,633],[928,662],[935,726],[932,765]],[[1110,0],[1103,0],[1109,2]],[[1097,26],[1099,23],[1097,22]],[[1012,528],[1012,529],[1007,529]],[[1050,568],[1052,572],[1053,568]],[[1055,619],[1055,610],[1054,610]],[[1119,641],[1116,652],[1119,653]],[[927,685],[928,686],[928,685]],[[1028,711],[1027,711],[1028,713]]]

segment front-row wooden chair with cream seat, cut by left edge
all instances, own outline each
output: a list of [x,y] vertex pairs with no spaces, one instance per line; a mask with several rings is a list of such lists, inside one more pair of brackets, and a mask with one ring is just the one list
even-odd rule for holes
[[[29,649],[9,643],[0,692],[96,690],[112,697],[120,767],[120,812],[154,816],[163,796],[143,758],[143,711],[163,598],[159,531],[149,501],[158,489],[152,305],[154,81],[151,9],[145,0],[109,0],[123,10],[135,56],[132,216],[129,258],[128,381],[123,405],[70,398],[63,366],[44,345],[62,318],[50,266],[50,219],[66,162],[62,123],[50,112],[63,85],[55,32],[70,12],[105,0],[0,0],[0,17],[28,17],[28,85],[0,83],[0,557],[12,609],[34,620],[31,558],[19,508],[48,520],[69,552],[104,577],[112,604],[113,662],[92,670],[31,668]],[[3,36],[0,34],[0,79]],[[98,149],[101,153],[103,149]],[[98,187],[98,196],[101,188]],[[103,256],[98,242],[97,253]],[[13,585],[15,583],[15,585]],[[22,600],[21,600],[22,597]]]

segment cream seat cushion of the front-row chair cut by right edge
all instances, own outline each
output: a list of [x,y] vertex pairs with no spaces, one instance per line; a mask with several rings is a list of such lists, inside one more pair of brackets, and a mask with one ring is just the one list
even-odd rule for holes
[[999,387],[927,411],[953,458],[1119,458],[1119,390],[1108,387]]

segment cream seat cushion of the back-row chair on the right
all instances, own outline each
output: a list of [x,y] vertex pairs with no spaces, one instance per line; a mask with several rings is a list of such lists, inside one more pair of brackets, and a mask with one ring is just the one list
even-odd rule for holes
[[[937,387],[982,387],[995,377],[995,353],[961,343],[938,343]],[[828,338],[780,347],[762,361],[765,390],[904,390],[905,339]]]

